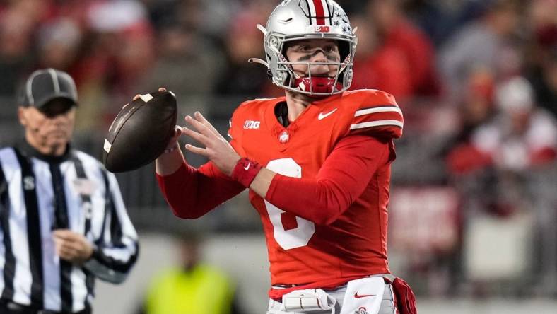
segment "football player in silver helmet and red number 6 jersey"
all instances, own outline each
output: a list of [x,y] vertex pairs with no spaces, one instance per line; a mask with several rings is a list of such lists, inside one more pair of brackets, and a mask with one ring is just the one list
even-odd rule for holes
[[[195,219],[250,189],[271,264],[268,314],[416,313],[414,293],[387,261],[393,139],[403,117],[394,97],[347,91],[356,32],[331,0],[283,1],[264,33],[273,82],[285,96],[242,103],[226,140],[199,112],[185,117],[156,160],[176,216]],[[206,156],[187,164],[185,134]]]

